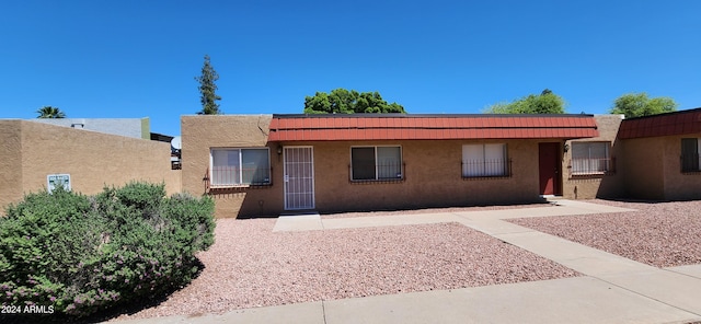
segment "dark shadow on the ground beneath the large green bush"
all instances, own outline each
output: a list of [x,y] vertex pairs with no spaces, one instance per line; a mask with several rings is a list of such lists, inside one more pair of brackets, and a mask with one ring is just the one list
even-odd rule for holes
[[[203,264],[199,258],[195,258],[195,265],[197,267],[197,273],[195,273],[195,275],[193,276],[193,280],[197,279],[199,277],[199,275],[202,275],[202,271],[205,269],[205,264]],[[191,281],[192,284],[192,281]],[[124,304],[118,304],[115,306],[112,306],[110,309],[103,310],[101,312],[97,312],[93,315],[87,316],[87,317],[74,317],[74,316],[68,316],[68,315],[64,315],[64,314],[58,314],[58,313],[54,313],[54,314],[26,314],[26,315],[7,315],[7,314],[2,314],[2,316],[0,317],[0,323],[2,324],[9,324],[9,323],[16,323],[16,324],[24,324],[24,323],[77,323],[77,324],[84,324],[84,323],[101,323],[101,322],[106,322],[110,320],[113,320],[119,315],[123,314],[136,314],[142,310],[146,309],[150,309],[150,308],[154,308],[158,306],[159,304],[161,304],[162,302],[164,302],[165,300],[168,300],[168,298],[173,294],[175,291],[179,291],[181,289],[184,289],[185,287],[189,286],[182,286],[182,287],[173,287],[170,290],[163,291],[162,293],[159,294],[154,294],[154,296],[150,296],[140,300],[135,300],[128,303],[124,303]],[[118,323],[118,322],[116,322]]]

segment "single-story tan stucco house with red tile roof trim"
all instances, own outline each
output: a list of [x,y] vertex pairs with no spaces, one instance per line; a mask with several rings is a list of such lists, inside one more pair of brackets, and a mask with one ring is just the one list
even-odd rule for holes
[[183,116],[183,190],[217,217],[701,199],[701,108],[622,115]]

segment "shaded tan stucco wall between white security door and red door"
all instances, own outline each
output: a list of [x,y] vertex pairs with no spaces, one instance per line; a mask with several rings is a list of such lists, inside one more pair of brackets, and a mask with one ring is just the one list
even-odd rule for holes
[[[463,180],[462,144],[507,143],[513,176]],[[405,209],[514,204],[539,199],[538,141],[371,141],[313,142],[317,210]],[[352,146],[399,144],[405,164],[402,182],[352,183]]]

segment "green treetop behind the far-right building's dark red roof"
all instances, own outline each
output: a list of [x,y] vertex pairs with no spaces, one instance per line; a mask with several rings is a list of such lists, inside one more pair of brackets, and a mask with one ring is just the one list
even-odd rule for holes
[[625,118],[641,117],[677,111],[677,103],[667,96],[647,97],[647,93],[627,93],[613,101],[611,114],[622,114]]

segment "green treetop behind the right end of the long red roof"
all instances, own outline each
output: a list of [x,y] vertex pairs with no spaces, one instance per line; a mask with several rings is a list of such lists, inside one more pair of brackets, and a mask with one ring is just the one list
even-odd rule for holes
[[550,89],[540,94],[529,94],[512,103],[497,103],[486,109],[487,114],[564,114],[564,100]]

